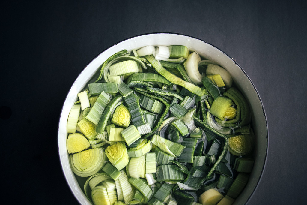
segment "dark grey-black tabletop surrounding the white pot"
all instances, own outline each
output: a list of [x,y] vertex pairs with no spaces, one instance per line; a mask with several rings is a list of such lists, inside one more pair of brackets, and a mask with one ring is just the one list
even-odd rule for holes
[[305,1],[85,2],[1,3],[2,200],[77,204],[57,152],[58,120],[70,86],[116,42],[173,32],[233,57],[262,99],[269,150],[248,204],[305,203]]

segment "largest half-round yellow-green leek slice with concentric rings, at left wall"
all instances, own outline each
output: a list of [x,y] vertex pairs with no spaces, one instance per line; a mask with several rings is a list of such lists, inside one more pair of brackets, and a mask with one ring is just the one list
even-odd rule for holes
[[92,148],[69,155],[72,171],[81,177],[97,173],[105,163],[103,148]]

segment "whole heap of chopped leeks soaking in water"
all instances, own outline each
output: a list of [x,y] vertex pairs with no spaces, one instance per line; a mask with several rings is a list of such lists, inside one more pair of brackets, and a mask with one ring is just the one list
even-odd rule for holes
[[94,204],[231,204],[254,163],[248,102],[226,69],[183,45],[109,57],[67,132]]

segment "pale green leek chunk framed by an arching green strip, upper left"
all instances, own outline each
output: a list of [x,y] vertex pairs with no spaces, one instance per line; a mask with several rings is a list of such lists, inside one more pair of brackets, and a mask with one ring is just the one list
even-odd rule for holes
[[109,67],[110,75],[122,76],[131,73],[138,73],[139,64],[133,60],[126,60],[115,63]]

